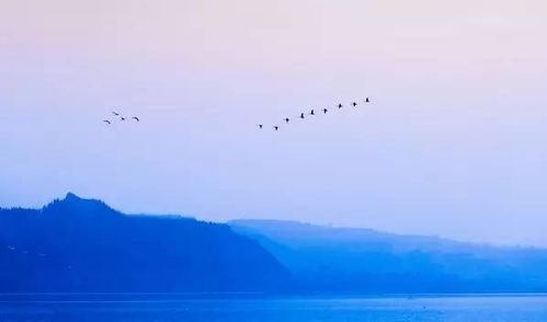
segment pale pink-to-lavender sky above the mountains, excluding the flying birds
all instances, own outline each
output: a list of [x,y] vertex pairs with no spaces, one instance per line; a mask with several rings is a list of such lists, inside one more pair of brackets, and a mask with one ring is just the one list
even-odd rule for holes
[[[73,192],[132,214],[547,246],[546,11],[2,0],[0,207]],[[141,122],[106,126],[112,111]]]

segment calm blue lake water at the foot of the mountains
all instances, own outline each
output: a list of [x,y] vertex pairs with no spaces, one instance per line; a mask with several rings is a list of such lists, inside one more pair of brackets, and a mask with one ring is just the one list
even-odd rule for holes
[[547,321],[547,296],[224,298],[3,295],[0,322]]

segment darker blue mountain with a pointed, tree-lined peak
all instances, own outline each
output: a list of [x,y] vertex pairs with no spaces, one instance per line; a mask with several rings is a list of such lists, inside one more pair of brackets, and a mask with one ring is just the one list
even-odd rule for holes
[[73,194],[0,209],[0,292],[277,291],[289,281],[227,225],[128,216]]

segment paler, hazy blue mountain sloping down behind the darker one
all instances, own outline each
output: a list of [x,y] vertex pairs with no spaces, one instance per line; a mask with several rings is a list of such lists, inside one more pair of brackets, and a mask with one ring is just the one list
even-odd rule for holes
[[547,250],[293,221],[235,220],[229,225],[267,249],[305,291],[547,291]]

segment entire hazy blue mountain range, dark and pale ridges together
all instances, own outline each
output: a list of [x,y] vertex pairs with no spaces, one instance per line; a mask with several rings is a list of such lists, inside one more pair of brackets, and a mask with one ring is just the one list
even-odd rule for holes
[[0,209],[0,292],[547,291],[547,251],[274,220]]

